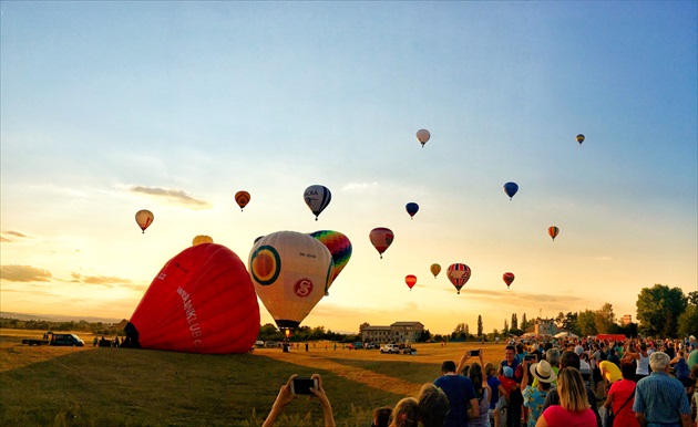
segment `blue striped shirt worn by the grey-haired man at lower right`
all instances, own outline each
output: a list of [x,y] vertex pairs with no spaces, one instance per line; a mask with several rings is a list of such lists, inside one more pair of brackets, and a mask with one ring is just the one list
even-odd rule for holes
[[633,412],[645,414],[649,427],[680,426],[681,415],[691,414],[684,385],[664,372],[637,382]]

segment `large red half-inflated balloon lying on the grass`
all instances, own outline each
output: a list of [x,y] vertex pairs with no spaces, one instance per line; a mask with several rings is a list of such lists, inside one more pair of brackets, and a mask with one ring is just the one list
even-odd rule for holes
[[259,305],[240,259],[220,244],[189,247],[157,273],[126,325],[124,346],[186,353],[246,353]]

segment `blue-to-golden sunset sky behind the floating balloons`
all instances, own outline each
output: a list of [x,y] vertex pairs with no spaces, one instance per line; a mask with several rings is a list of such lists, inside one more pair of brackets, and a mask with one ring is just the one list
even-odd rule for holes
[[697,290],[697,8],[3,1],[0,311],[129,319],[197,235],[247,263],[330,229],[353,253],[302,325],[635,319],[643,288]]

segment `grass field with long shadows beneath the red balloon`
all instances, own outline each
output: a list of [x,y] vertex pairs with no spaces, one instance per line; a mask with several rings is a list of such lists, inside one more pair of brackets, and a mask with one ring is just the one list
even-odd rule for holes
[[[198,355],[131,348],[22,345],[37,331],[0,330],[0,423],[3,426],[259,426],[291,374],[322,376],[338,426],[368,426],[373,408],[415,396],[445,360],[476,343],[415,344],[417,355],[378,350],[259,348]],[[485,344],[485,362],[504,357]],[[319,404],[298,397],[279,426],[321,425]]]

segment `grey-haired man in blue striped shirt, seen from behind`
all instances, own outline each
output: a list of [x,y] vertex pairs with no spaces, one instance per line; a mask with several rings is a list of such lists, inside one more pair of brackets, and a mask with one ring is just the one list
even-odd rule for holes
[[651,374],[637,382],[633,410],[640,426],[690,427],[691,410],[684,385],[669,376],[669,356],[655,352],[649,356]]

